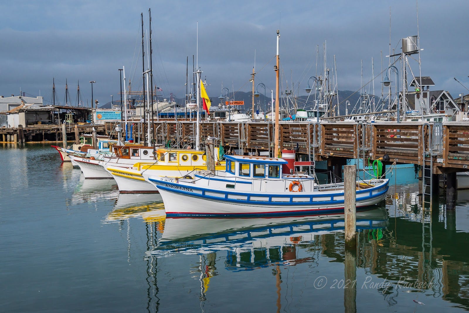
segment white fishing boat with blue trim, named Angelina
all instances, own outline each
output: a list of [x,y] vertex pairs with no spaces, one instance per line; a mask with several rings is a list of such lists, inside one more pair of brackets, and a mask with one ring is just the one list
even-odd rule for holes
[[[225,171],[199,172],[194,179],[143,176],[158,188],[168,216],[318,214],[344,209],[343,183],[318,185],[305,174],[281,174],[288,163],[284,159],[225,158]],[[388,179],[357,182],[356,206],[381,202],[388,187]]]

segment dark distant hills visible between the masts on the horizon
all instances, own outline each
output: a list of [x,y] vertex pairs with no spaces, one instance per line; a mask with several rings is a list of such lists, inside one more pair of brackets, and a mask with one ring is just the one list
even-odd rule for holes
[[[313,103],[311,101],[311,99],[314,99],[310,97],[310,99],[308,100],[308,103],[306,103],[306,99],[308,97],[307,96],[300,96],[297,98],[297,101],[298,101],[298,107],[300,108],[304,108],[306,110],[309,110],[311,109]],[[162,99],[167,99],[167,97],[161,97],[161,100]],[[349,107],[349,110],[351,110],[355,104],[358,102],[358,100],[360,99],[360,93],[359,92],[352,92],[352,91],[349,91],[349,90],[342,90],[342,91],[339,91],[339,102],[340,102],[340,113],[341,115],[345,115],[345,101],[348,100],[350,102],[350,107]],[[177,98],[176,97],[176,102],[177,103],[184,103],[186,101],[186,98]],[[220,103],[220,99],[218,99],[218,96],[212,96],[210,97],[210,100],[212,101],[212,106],[218,106],[218,104]],[[245,106],[245,109],[249,110],[250,107],[252,106],[252,98],[251,98],[251,93],[250,92],[236,92],[234,94],[234,100],[236,101],[241,101],[243,100],[244,101],[244,106]],[[255,101],[255,104],[259,104],[259,105],[264,105],[264,95],[260,95],[259,97],[255,98],[254,99]],[[268,103],[271,101],[270,99],[270,95],[267,95],[265,97],[265,104],[268,105]],[[116,101],[114,101],[116,102]],[[119,102],[117,102],[119,103]],[[106,108],[106,109],[110,109],[112,108],[112,104],[111,104],[111,101],[107,102],[106,104],[103,104],[102,106],[100,106],[99,108]],[[349,113],[350,114],[350,113]]]

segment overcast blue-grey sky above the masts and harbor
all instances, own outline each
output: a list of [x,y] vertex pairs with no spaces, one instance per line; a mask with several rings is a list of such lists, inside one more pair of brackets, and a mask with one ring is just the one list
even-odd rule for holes
[[[315,0],[315,1],[1,1],[0,95],[22,91],[64,102],[65,80],[76,104],[80,81],[83,101],[100,104],[119,98],[118,69],[125,66],[132,90],[142,89],[141,22],[148,34],[152,15],[154,84],[169,98],[186,93],[186,58],[192,81],[192,56],[206,77],[210,97],[219,96],[222,84],[230,91],[249,92],[252,68],[255,84],[275,89],[276,31],[280,29],[282,89],[294,83],[304,95],[316,69],[317,49],[322,60],[327,42],[327,66],[337,67],[339,90],[357,91],[388,64],[391,47],[400,52],[401,38],[417,35],[416,1]],[[453,97],[469,93],[468,0],[419,0],[418,18],[422,76],[431,76],[433,90]],[[148,36],[146,36],[148,37]],[[145,41],[147,38],[145,38]],[[145,48],[146,49],[146,48]],[[146,53],[146,52],[145,52]],[[381,55],[383,60],[381,60]],[[363,78],[361,64],[363,61]],[[419,76],[416,61],[412,71]],[[145,57],[145,67],[147,59]],[[320,62],[319,62],[320,63]],[[383,65],[382,65],[383,63]],[[293,77],[293,80],[292,80]],[[381,76],[375,94],[381,94]],[[288,89],[291,89],[289,87]],[[372,93],[372,84],[365,87]],[[259,87],[259,92],[264,89]]]

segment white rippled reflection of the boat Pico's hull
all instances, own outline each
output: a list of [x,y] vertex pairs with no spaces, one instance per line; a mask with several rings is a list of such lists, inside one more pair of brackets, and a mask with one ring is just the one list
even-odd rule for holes
[[76,183],[70,204],[98,201],[113,201],[119,196],[117,184],[113,179],[85,179],[83,175]]

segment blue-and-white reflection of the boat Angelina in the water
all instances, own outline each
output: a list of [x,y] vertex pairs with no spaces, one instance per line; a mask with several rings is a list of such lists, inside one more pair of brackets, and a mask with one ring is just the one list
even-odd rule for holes
[[[360,210],[357,229],[387,227],[386,209]],[[148,255],[171,256],[175,252],[207,254],[228,251],[233,269],[280,262],[295,263],[295,246],[312,244],[318,235],[344,229],[344,214],[278,218],[172,218],[165,221],[162,237]],[[293,253],[293,255],[292,255]]]

